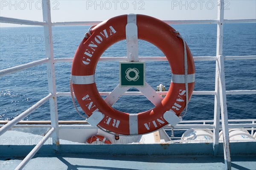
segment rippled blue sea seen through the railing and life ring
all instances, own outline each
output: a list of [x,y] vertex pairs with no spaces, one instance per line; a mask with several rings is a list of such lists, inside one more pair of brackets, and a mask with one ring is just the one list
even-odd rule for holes
[[[193,56],[216,55],[215,24],[173,25],[186,40]],[[89,26],[53,27],[55,58],[73,57]],[[45,58],[43,27],[1,28],[0,69]],[[225,24],[223,54],[226,56],[256,55],[256,24]],[[112,45],[102,57],[124,57],[125,41]],[[164,56],[154,45],[139,41],[139,56]],[[57,92],[70,91],[71,62],[55,63]],[[215,90],[215,61],[196,61],[195,91]],[[52,76],[46,64],[17,71],[0,78],[0,120],[11,120],[49,94],[47,77]],[[146,82],[155,90],[162,83],[169,89],[171,71],[168,62],[146,62]],[[227,90],[256,89],[256,60],[225,61]],[[96,84],[99,91],[112,91],[119,83],[119,62],[99,62]],[[131,89],[130,91],[136,91]],[[102,96],[103,98],[105,96]],[[83,120],[76,112],[70,96],[60,96],[59,120]],[[52,106],[55,108],[56,106]],[[154,105],[144,96],[122,96],[113,106],[139,113]],[[34,111],[25,120],[50,120],[49,102]],[[81,111],[81,109],[80,109]],[[229,119],[255,119],[256,95],[227,95]],[[183,120],[213,119],[214,96],[193,95]]]

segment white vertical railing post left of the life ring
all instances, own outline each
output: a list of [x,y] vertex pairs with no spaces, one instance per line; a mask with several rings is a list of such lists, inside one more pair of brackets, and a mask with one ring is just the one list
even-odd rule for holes
[[58,130],[58,110],[57,110],[57,99],[56,99],[56,84],[55,84],[55,68],[54,68],[54,56],[53,56],[53,42],[52,42],[52,20],[51,20],[51,8],[49,0],[42,0],[43,3],[43,20],[47,23],[44,26],[44,40],[45,40],[45,51],[46,57],[49,58],[47,62],[47,73],[48,73],[48,89],[49,93],[52,94],[50,102],[50,116],[51,126],[54,127],[55,131],[52,133],[52,144],[55,150],[59,149],[59,130]]

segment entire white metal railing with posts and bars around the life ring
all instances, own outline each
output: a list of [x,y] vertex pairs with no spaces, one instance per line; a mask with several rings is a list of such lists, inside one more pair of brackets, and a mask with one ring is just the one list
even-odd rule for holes
[[[47,6],[49,0],[42,0],[44,6]],[[218,132],[220,130],[220,126],[223,129],[223,137],[224,139],[224,159],[225,164],[227,165],[227,169],[231,169],[231,159],[230,159],[230,150],[229,150],[229,135],[228,128],[229,127],[251,127],[252,130],[255,128],[256,120],[252,120],[252,124],[228,124],[227,119],[227,107],[224,106],[226,101],[226,95],[239,95],[239,94],[256,94],[256,90],[240,90],[240,91],[226,91],[225,89],[225,75],[224,75],[224,60],[236,60],[236,59],[256,59],[256,56],[223,56],[222,55],[222,38],[223,37],[223,25],[224,23],[255,23],[256,19],[241,19],[241,20],[224,20],[224,0],[218,0],[218,19],[217,20],[166,20],[164,22],[168,24],[204,24],[204,23],[215,23],[217,24],[217,48],[216,48],[216,56],[207,56],[207,57],[194,57],[195,61],[216,61],[216,70],[215,70],[215,91],[194,91],[193,94],[202,95],[215,95],[215,108],[214,108],[214,120],[211,122],[213,124],[207,125],[206,122],[203,122],[203,125],[195,125],[191,124],[190,126],[183,125],[182,123],[189,123],[183,121],[181,124],[175,126],[176,128],[189,128],[189,127],[205,127],[205,128],[213,128],[214,130],[214,143],[213,149],[216,151],[218,148]],[[59,22],[52,23],[51,22],[51,13],[49,8],[43,8],[43,20],[44,22],[31,21],[31,20],[20,20],[8,17],[0,17],[1,23],[13,23],[13,24],[24,24],[24,25],[33,25],[33,26],[44,26],[44,35],[50,36],[52,38],[52,26],[85,26],[85,25],[95,25],[100,22],[98,21],[90,21],[90,22]],[[13,71],[18,71],[21,69],[26,69],[30,67],[34,67],[36,65],[40,65],[43,63],[47,63],[47,69],[51,69],[54,74],[54,63],[55,62],[72,62],[73,58],[57,58],[54,59],[53,55],[53,45],[52,43],[45,43],[46,47],[46,59],[38,60],[35,62],[29,62],[27,64],[15,66],[12,68],[7,68],[0,71],[0,76],[4,76],[6,74],[10,74]],[[100,61],[127,61],[127,57],[102,57]],[[166,57],[139,57],[139,61],[167,61]],[[56,92],[55,88],[55,78],[54,75],[48,78],[48,89],[49,95],[45,98],[41,99],[39,102],[42,104],[46,102],[48,99],[50,100],[50,105],[57,105],[57,96],[70,96],[70,93],[65,92]],[[111,92],[100,92],[101,95],[108,95]],[[166,94],[166,92],[157,92],[158,94]],[[141,95],[140,92],[126,92],[125,95]],[[7,128],[13,127],[20,122],[24,117],[32,113],[35,109],[37,109],[38,105],[36,103],[28,110],[21,113],[12,121],[8,122],[6,125],[0,128],[0,135],[6,132]],[[37,105],[38,104],[38,105]],[[37,105],[37,106],[36,106]],[[90,125],[58,125],[58,112],[54,109],[50,109],[51,113],[51,130],[47,133],[47,136],[43,139],[40,146],[36,146],[28,156],[20,163],[20,165],[16,169],[22,169],[26,163],[35,155],[35,153],[40,149],[42,144],[49,138],[50,135],[54,138],[53,144],[55,146],[58,145],[58,128],[65,128],[67,126],[71,127],[84,127],[90,128]],[[221,120],[220,120],[221,115]],[[221,125],[219,122],[222,122]],[[187,124],[189,125],[189,124]],[[18,126],[18,125],[17,125]],[[56,147],[55,149],[58,149]]]

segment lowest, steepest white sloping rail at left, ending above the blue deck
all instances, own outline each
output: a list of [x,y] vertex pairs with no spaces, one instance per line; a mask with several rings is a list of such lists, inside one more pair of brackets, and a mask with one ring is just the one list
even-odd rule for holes
[[29,154],[23,159],[23,161],[20,162],[20,164],[15,168],[15,170],[21,170],[23,167],[26,166],[26,164],[32,159],[33,156],[38,152],[38,150],[43,146],[43,144],[47,141],[47,139],[52,135],[54,132],[54,127],[52,127],[48,133],[41,139],[39,144],[36,144],[36,146],[29,152]]

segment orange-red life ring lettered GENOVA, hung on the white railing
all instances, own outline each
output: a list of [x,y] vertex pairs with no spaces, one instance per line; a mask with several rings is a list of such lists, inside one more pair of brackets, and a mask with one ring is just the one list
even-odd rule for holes
[[[195,65],[192,54],[186,45],[188,93],[184,76],[184,44],[174,28],[154,17],[137,14],[138,38],[157,46],[169,61],[172,82],[165,98],[154,108],[137,114],[124,113],[113,109],[100,96],[95,83],[95,70],[103,52],[114,43],[125,40],[125,26],[128,15],[120,15],[95,26],[90,37],[85,37],[76,50],[73,59],[71,78],[76,99],[87,114],[94,111],[103,113],[104,119],[98,126],[116,134],[134,135],[155,131],[168,125],[163,114],[173,111],[180,116],[192,96],[195,85]],[[185,42],[184,42],[185,43]],[[132,125],[132,126],[131,126]],[[135,130],[134,130],[135,129]]]

